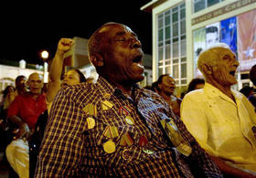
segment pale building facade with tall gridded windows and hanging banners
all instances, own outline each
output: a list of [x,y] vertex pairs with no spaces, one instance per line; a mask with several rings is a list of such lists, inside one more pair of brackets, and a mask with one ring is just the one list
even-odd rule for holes
[[200,51],[216,42],[229,45],[240,68],[235,89],[252,85],[256,64],[256,0],[152,0],[141,7],[153,16],[153,81],[169,73],[177,94],[186,91],[197,69]]

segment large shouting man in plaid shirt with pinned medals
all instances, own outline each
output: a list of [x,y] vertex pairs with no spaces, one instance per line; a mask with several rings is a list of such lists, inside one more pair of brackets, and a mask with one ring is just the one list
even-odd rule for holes
[[144,53],[131,28],[104,24],[88,48],[99,79],[59,90],[35,177],[221,177],[164,99],[136,84]]

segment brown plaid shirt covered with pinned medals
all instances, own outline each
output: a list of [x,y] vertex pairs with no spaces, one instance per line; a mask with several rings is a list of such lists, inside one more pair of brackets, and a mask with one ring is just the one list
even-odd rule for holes
[[[160,127],[163,118],[175,120],[190,143],[193,151],[188,157],[166,139]],[[96,84],[59,91],[38,155],[36,177],[104,175],[222,176],[159,95],[134,86],[132,99],[100,77]]]

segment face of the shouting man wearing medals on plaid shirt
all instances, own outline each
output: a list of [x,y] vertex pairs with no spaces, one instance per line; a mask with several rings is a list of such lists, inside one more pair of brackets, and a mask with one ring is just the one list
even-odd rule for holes
[[103,75],[117,83],[144,79],[143,50],[136,34],[128,26],[111,25],[104,31],[102,45]]

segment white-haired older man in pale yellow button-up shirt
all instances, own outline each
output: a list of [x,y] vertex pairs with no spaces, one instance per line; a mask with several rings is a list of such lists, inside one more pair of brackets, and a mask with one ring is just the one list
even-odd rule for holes
[[256,114],[239,91],[236,55],[224,43],[202,51],[197,67],[206,83],[187,93],[181,103],[181,120],[224,175],[256,175]]

